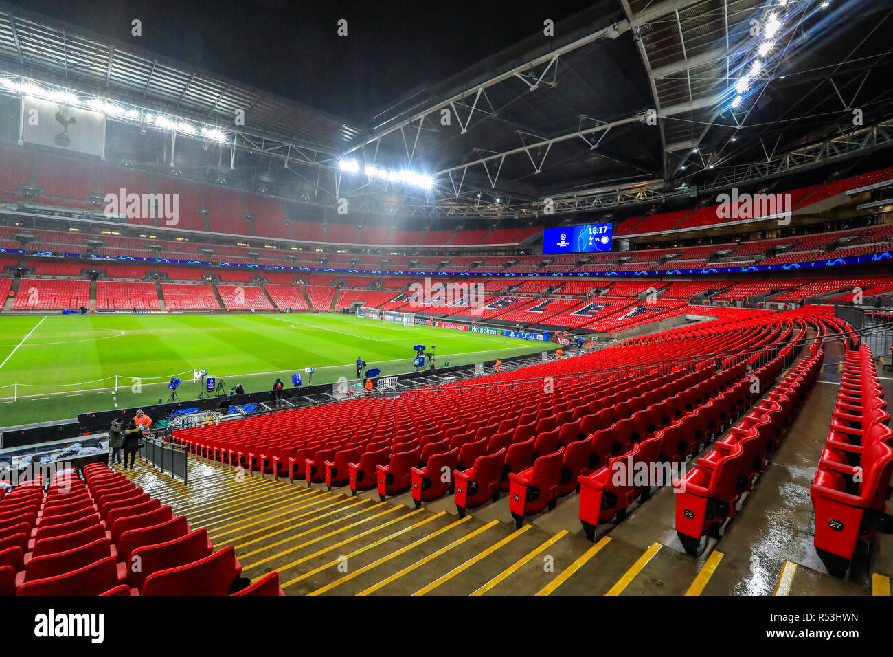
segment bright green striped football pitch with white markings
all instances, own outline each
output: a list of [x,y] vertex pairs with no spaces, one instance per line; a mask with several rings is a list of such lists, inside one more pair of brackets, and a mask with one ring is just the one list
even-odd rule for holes
[[313,383],[353,379],[358,357],[382,375],[411,372],[420,343],[437,346],[438,366],[545,346],[346,315],[0,316],[0,427],[166,401],[171,376],[180,399],[194,399],[196,369],[245,392],[271,390],[277,376],[291,387],[295,372],[306,385],[305,367]]

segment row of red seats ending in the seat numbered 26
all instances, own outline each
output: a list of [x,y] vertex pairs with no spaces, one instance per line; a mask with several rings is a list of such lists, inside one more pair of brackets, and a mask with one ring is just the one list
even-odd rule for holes
[[[805,339],[805,333],[805,327],[801,328],[797,344]],[[705,535],[719,537],[722,526],[738,512],[742,495],[751,490],[755,476],[778,448],[822,367],[824,352],[814,347],[815,353],[803,358],[713,450],[697,459],[696,467],[673,481],[678,493],[676,534],[686,552],[700,552]],[[757,371],[755,391],[762,392],[775,381],[793,355],[795,347],[785,347],[763,366],[762,373]]]

